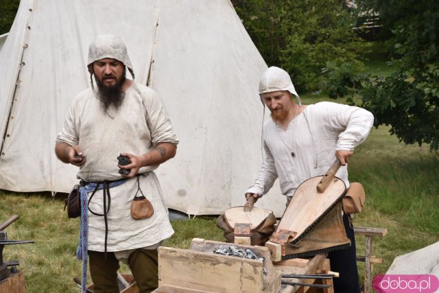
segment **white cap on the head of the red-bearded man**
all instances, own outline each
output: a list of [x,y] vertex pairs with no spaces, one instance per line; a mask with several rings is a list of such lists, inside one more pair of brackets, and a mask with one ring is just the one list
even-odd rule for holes
[[259,81],[259,95],[272,91],[289,91],[299,97],[287,71],[274,66],[265,70]]

